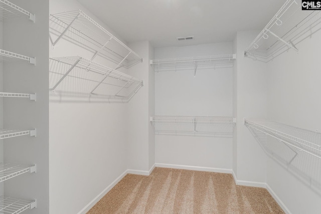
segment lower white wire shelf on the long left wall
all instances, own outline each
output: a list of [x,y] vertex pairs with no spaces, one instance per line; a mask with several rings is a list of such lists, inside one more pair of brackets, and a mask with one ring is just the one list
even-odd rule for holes
[[143,86],[141,80],[82,57],[50,59],[51,70],[57,72],[51,78],[57,81],[51,88],[53,91],[130,99]]

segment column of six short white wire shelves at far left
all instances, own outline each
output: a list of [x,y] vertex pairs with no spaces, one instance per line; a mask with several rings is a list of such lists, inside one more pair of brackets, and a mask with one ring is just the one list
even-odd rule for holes
[[[17,17],[27,17],[33,23],[36,22],[35,14],[24,10],[23,8],[6,0],[0,0],[0,19],[1,21],[7,21],[9,19]],[[0,49],[0,61],[7,63],[8,61],[27,61],[30,64],[36,65],[36,58],[28,57],[21,54],[13,53],[7,50]],[[9,93],[0,92],[0,97],[16,97],[16,98],[29,98],[36,101],[35,94],[26,93]],[[35,136],[36,129],[33,130],[0,130],[0,139],[7,139],[12,137],[18,137],[23,135]],[[6,143],[6,142],[5,142]],[[0,163],[0,182],[16,177],[18,175],[36,172],[35,165],[21,165],[12,163]],[[37,200],[22,200],[15,199],[7,196],[0,196],[0,214],[18,214],[26,209],[32,209],[37,207]]]

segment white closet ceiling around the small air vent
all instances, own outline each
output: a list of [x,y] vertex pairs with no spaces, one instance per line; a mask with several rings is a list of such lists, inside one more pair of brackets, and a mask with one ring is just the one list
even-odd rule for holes
[[[154,47],[233,41],[261,30],[285,0],[78,0],[126,42]],[[178,42],[177,37],[195,36]],[[253,38],[254,39],[254,38]]]

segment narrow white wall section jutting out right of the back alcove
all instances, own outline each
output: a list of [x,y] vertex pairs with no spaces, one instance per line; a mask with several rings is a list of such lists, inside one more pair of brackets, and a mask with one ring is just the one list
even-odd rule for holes
[[243,124],[243,118],[267,114],[266,65],[244,57],[258,31],[237,33],[237,179],[266,182],[266,155]]

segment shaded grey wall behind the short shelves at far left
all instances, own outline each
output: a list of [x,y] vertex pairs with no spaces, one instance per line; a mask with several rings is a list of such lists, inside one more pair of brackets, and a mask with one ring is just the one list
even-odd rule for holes
[[[48,14],[49,1],[11,1],[36,14],[36,23],[27,16],[3,22],[4,49],[36,57],[37,65],[27,61],[4,63],[4,91],[37,93],[37,102],[25,98],[4,99],[5,128],[37,128],[37,137],[5,139],[4,161],[37,164],[37,173],[23,174],[5,181],[5,195],[33,200],[37,208],[24,213],[49,213],[49,101],[48,101]],[[62,176],[60,174],[60,176]]]

